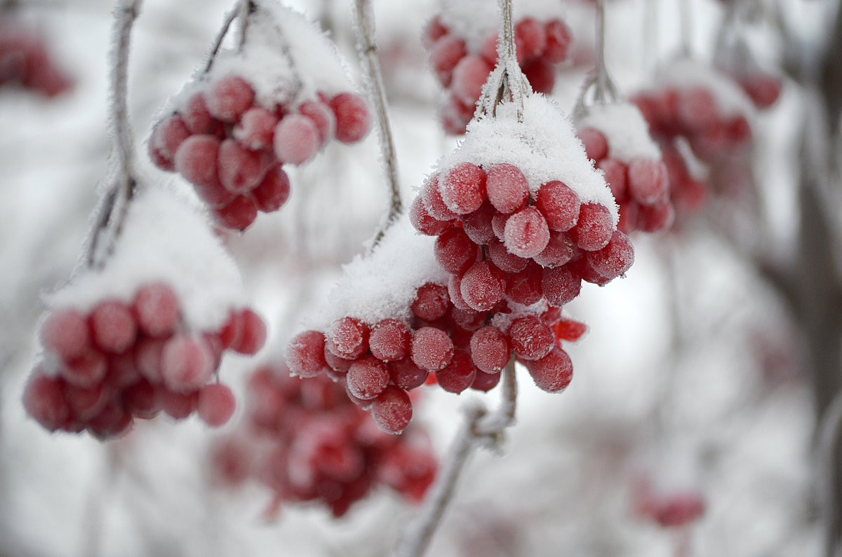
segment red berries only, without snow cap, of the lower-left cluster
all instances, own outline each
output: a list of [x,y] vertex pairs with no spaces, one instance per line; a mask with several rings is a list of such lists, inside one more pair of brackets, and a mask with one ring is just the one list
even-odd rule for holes
[[29,415],[50,431],[100,439],[126,432],[135,417],[196,411],[221,426],[235,401],[210,383],[226,349],[253,354],[266,328],[252,310],[232,311],[216,332],[184,331],[179,299],[167,284],[136,290],[133,300],[103,300],[88,313],[52,310],[40,329],[44,358],[24,390]]

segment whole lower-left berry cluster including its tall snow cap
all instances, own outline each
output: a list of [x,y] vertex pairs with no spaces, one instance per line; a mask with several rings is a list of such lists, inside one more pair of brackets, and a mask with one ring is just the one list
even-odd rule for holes
[[160,411],[221,426],[235,407],[215,382],[222,354],[256,353],[266,339],[238,283],[200,215],[163,191],[137,194],[104,268],[47,300],[43,351],[24,390],[29,415],[101,439]]

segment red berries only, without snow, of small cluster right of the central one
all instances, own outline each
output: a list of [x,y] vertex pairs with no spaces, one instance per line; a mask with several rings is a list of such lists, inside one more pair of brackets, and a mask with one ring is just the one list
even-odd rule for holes
[[605,172],[605,182],[620,206],[617,229],[655,232],[669,228],[675,216],[669,199],[669,174],[663,162],[635,157],[622,160],[611,151],[606,135],[594,127],[578,131],[585,152]]

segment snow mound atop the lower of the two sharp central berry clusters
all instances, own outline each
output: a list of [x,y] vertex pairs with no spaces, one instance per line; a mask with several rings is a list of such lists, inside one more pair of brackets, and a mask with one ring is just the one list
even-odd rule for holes
[[400,215],[370,255],[358,255],[344,266],[327,304],[307,328],[326,331],[344,316],[369,325],[386,318],[408,324],[418,288],[429,282],[447,284],[450,276],[435,261],[435,240],[419,235],[408,215]]

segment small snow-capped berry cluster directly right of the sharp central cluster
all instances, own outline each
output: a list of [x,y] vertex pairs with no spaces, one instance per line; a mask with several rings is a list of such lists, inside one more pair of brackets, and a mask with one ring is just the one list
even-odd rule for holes
[[661,151],[631,104],[596,104],[577,122],[578,136],[620,205],[617,228],[654,232],[674,219],[669,176]]

